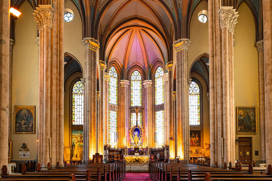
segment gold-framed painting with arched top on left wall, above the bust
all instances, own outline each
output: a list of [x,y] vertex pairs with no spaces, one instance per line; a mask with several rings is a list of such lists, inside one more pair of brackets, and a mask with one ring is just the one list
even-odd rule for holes
[[15,106],[14,133],[35,133],[35,106]]

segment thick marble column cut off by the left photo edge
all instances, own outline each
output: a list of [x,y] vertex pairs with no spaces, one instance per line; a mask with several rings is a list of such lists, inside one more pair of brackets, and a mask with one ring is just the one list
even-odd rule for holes
[[0,2],[0,167],[8,165],[8,85],[9,85],[9,8],[10,1]]

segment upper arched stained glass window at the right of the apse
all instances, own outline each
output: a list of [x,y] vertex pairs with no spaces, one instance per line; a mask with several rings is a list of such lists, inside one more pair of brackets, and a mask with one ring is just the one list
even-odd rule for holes
[[164,103],[164,81],[162,79],[163,75],[163,68],[158,67],[155,73],[155,105]]

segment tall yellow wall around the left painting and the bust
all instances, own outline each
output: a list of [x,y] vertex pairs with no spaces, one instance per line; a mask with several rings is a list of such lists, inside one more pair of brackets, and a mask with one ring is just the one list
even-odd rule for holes
[[[37,25],[33,9],[25,1],[19,11],[22,13],[15,22],[15,43],[12,69],[12,158],[11,160],[37,159],[38,144],[38,62],[39,47],[35,43]],[[14,106],[36,106],[35,134],[14,134]],[[29,158],[19,158],[19,149],[25,143],[30,150]]]

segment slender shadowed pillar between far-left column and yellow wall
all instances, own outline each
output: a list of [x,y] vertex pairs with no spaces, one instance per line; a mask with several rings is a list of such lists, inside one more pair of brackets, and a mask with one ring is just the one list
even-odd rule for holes
[[12,93],[12,51],[14,40],[9,39],[9,83],[8,83],[8,139],[11,139],[11,93]]

